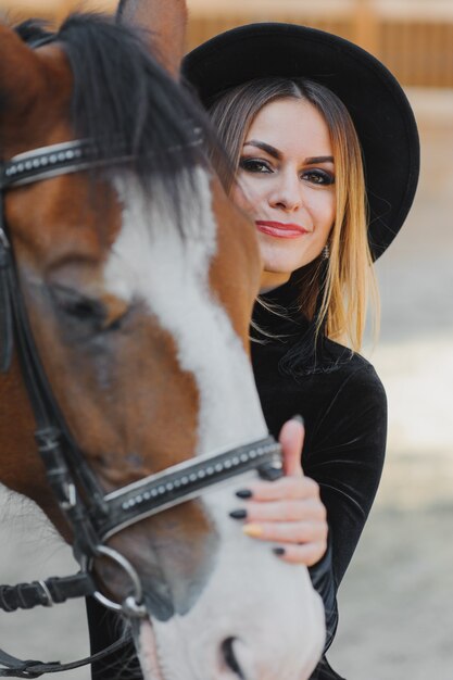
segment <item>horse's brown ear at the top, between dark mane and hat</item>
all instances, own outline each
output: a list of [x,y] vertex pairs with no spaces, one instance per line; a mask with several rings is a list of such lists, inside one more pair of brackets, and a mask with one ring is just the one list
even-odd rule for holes
[[178,78],[186,51],[186,0],[119,0],[116,17],[148,32],[150,50]]

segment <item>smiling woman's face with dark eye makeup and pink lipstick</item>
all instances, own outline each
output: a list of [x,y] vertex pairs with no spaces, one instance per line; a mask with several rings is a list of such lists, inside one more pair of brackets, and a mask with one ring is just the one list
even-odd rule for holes
[[242,148],[232,200],[254,219],[262,291],[285,284],[326,244],[335,221],[335,166],[323,115],[307,101],[263,106]]

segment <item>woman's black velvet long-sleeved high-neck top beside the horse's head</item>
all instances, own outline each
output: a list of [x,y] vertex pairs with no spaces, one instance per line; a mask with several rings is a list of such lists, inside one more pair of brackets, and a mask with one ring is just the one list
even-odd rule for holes
[[[298,354],[309,323],[293,306],[290,284],[264,297],[287,310],[282,318],[260,303],[253,319],[264,331],[264,342],[252,343],[256,386],[269,431],[278,437],[284,423],[300,414],[305,420],[302,467],[320,487],[327,508],[329,545],[323,559],[311,567],[314,587],[326,610],[327,641],[338,622],[337,590],[351,561],[372,507],[383,464],[387,401],[373,366],[344,347],[324,340],[316,361],[309,356],[298,369],[288,367],[288,352]],[[268,337],[268,336],[272,337]],[[302,349],[304,341],[302,341]],[[290,362],[291,365],[291,362]],[[112,616],[88,601],[92,652],[113,642]],[[102,622],[101,622],[102,617]],[[123,656],[124,652],[119,653]],[[118,658],[93,666],[95,680],[108,680]],[[135,675],[135,678],[139,676]],[[123,675],[122,675],[123,678]],[[311,680],[340,678],[323,658]],[[124,679],[126,680],[126,679]]]

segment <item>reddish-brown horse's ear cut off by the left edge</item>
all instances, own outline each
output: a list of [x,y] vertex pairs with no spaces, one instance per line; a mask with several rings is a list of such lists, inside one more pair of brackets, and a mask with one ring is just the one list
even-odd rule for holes
[[0,125],[20,125],[42,87],[41,63],[21,38],[0,25]]

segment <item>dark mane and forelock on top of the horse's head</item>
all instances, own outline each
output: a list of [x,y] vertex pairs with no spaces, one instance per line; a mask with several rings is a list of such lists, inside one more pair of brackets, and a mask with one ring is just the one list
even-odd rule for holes
[[133,169],[148,187],[147,180],[159,174],[177,206],[175,175],[207,164],[204,150],[216,147],[215,135],[201,108],[160,66],[140,34],[92,13],[71,15],[54,34],[37,21],[15,30],[30,47],[55,41],[65,51],[74,77],[75,135],[101,142],[105,160],[131,156]]

